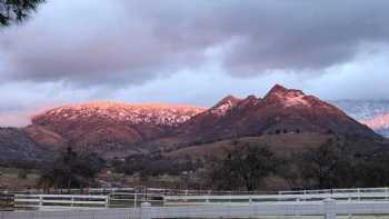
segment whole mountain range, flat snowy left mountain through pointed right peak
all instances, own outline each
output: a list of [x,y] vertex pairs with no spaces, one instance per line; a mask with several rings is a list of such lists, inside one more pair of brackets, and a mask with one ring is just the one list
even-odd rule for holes
[[[118,102],[58,107],[37,115],[26,128],[1,129],[0,159],[43,158],[68,146],[112,158],[277,135],[382,138],[335,104],[277,84],[263,98],[228,96],[211,108]],[[18,151],[26,156],[16,157]]]

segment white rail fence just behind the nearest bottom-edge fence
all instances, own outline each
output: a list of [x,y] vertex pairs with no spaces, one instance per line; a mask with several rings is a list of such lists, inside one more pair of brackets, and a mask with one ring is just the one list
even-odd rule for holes
[[[279,191],[272,195],[249,192],[205,192],[148,190],[134,193],[131,189],[94,189],[90,193],[103,195],[39,195],[16,193],[14,206],[18,208],[137,208],[141,202],[152,206],[207,206],[207,205],[257,205],[263,202],[321,201],[331,198],[338,201],[389,201],[388,188],[332,189]],[[143,191],[144,192],[144,191]],[[203,195],[206,193],[206,195]],[[236,195],[237,193],[237,195]],[[174,195],[174,196],[172,196]]]

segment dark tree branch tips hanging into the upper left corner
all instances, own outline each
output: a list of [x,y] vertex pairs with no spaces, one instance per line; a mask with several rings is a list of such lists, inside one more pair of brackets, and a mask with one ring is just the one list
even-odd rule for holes
[[0,0],[0,27],[20,22],[46,0]]

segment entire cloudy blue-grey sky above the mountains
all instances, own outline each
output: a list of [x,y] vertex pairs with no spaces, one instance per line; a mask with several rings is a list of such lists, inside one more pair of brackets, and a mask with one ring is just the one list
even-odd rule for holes
[[0,126],[111,100],[209,107],[275,84],[389,99],[387,0],[48,0],[0,29]]

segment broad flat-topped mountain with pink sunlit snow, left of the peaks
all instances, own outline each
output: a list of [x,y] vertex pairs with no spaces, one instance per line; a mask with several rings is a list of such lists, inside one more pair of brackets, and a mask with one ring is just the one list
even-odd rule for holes
[[140,152],[143,149],[139,145],[167,136],[203,110],[164,103],[77,103],[33,117],[26,131],[47,148],[71,146],[110,157],[122,150]]

